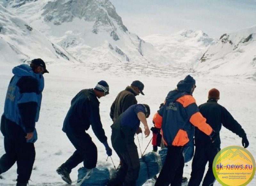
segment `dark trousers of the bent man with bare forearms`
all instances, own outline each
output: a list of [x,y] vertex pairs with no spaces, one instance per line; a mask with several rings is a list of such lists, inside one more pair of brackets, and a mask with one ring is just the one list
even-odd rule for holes
[[134,143],[134,131],[128,127],[112,128],[111,142],[122,164],[117,170],[116,177],[108,182],[108,186],[135,186],[139,176],[140,161]]

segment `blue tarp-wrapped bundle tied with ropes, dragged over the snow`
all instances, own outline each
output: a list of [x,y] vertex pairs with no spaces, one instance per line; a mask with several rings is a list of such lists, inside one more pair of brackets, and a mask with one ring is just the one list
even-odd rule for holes
[[[161,171],[162,165],[164,164],[166,158],[166,154],[167,148],[164,148],[161,149],[158,153],[150,152],[140,158],[140,172],[136,181],[136,186],[143,185],[148,179],[153,178]],[[190,149],[189,154],[191,154]],[[78,169],[78,179],[76,185],[105,186],[107,185],[108,180],[114,177],[115,174],[116,170],[114,168],[95,167],[93,169],[86,169],[82,167]]]

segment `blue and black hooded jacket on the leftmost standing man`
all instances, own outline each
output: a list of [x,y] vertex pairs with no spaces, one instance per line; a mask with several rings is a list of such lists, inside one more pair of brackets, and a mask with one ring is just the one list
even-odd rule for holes
[[12,73],[14,76],[8,86],[3,115],[19,125],[25,133],[34,131],[33,138],[28,142],[35,142],[35,124],[39,118],[44,77],[34,73],[27,64],[14,67]]

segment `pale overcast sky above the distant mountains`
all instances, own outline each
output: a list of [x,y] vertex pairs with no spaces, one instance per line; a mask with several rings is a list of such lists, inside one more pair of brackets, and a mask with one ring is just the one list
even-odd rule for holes
[[256,0],[110,0],[132,33],[202,30],[210,37],[256,26]]

